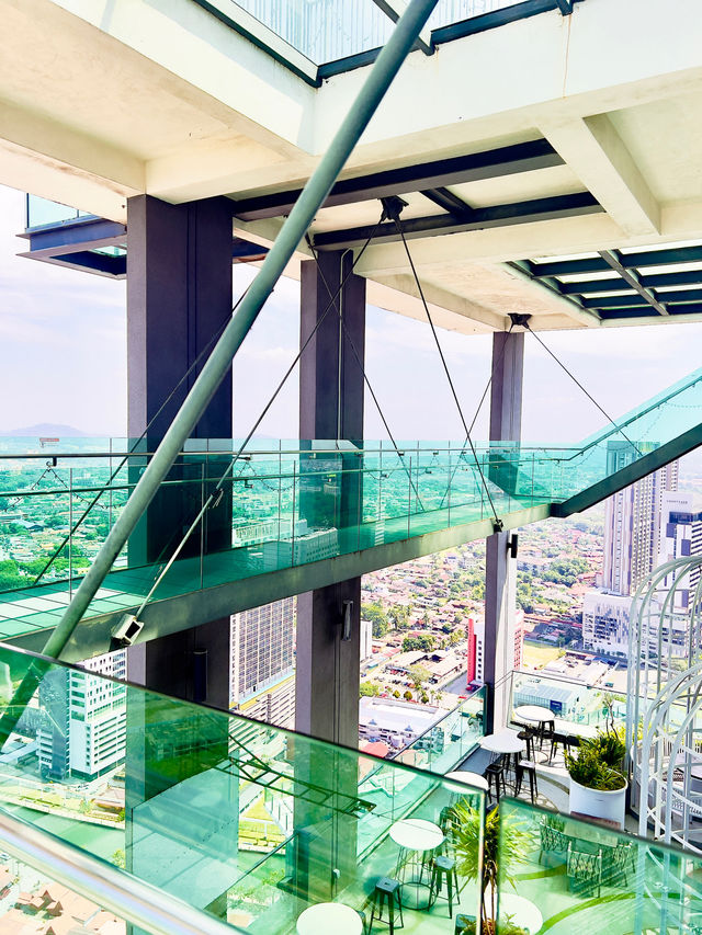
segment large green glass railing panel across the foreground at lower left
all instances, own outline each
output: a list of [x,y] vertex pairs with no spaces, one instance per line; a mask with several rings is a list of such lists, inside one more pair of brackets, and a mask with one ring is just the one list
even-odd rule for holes
[[[0,756],[1,810],[237,931],[286,935],[332,902],[367,922],[389,878],[407,927],[453,935],[431,859],[445,809],[467,800],[482,816],[479,791],[8,648],[1,709],[30,668],[38,687]],[[477,880],[460,874],[458,888],[475,916]]]

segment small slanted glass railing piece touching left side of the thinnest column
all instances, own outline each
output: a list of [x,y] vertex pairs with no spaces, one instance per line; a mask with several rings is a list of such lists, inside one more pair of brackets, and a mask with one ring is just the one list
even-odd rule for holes
[[478,688],[453,710],[394,757],[405,763],[445,775],[455,769],[485,736],[485,687]]

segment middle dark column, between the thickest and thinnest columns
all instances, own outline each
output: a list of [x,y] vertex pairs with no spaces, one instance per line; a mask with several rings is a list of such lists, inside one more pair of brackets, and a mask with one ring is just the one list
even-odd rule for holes
[[[319,270],[314,261],[303,263],[301,342],[307,340],[327,312],[352,262],[351,251],[339,251],[322,253]],[[301,358],[301,440],[360,442],[363,437],[363,374],[341,327],[338,307],[359,358],[364,358],[365,281],[351,275],[338,305],[324,317]],[[310,487],[307,502],[301,504],[301,516],[308,528],[335,527],[340,539],[354,534],[359,476],[341,470],[360,463],[356,455],[336,459],[333,469],[339,482],[333,503],[327,502],[328,492]],[[312,456],[308,464],[312,470]],[[342,639],[346,601],[352,602],[348,640]],[[359,742],[360,622],[360,578],[317,589],[297,600],[296,729],[353,749]]]

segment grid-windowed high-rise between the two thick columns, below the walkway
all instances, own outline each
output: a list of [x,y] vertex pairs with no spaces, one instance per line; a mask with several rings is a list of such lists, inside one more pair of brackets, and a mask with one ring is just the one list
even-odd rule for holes
[[229,706],[257,720],[295,720],[295,598],[233,614]]

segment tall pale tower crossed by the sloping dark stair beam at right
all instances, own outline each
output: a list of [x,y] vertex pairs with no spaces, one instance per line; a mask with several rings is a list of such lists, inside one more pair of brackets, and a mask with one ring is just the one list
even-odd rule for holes
[[[635,456],[627,442],[610,442],[608,474],[626,467]],[[656,567],[663,498],[677,489],[678,461],[671,461],[607,501],[601,579],[604,591],[632,595]]]

